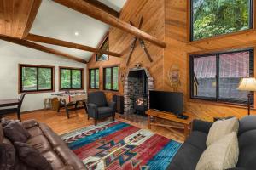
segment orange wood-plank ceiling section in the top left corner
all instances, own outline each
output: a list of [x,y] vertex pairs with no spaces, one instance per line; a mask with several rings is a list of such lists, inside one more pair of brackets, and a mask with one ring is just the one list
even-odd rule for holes
[[41,2],[42,0],[1,0],[0,34],[8,37],[26,37]]

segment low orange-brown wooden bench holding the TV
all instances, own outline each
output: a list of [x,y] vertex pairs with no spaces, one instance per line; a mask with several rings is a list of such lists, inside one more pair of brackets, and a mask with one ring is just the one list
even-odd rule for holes
[[[191,129],[191,124],[193,120],[195,119],[195,116],[190,113],[183,113],[183,115],[189,116],[188,119],[180,119],[177,118],[176,115],[170,113],[170,112],[164,112],[164,111],[154,111],[154,110],[148,110],[146,111],[146,114],[148,115],[148,128],[150,129],[152,125],[159,126],[159,127],[172,127],[177,129],[184,129],[184,136],[185,138],[188,137],[189,131]],[[155,117],[165,119],[171,122],[176,122],[177,124],[180,124],[181,126],[175,126],[175,125],[167,125],[160,122],[155,121]],[[152,119],[153,118],[153,119]]]

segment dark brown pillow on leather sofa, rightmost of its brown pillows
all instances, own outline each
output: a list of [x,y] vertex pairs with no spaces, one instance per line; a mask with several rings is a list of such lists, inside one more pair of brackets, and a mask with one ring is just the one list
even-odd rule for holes
[[44,156],[41,156],[39,151],[34,149],[31,145],[15,142],[15,148],[20,160],[25,162],[27,166],[37,170],[52,170],[49,161],[47,161]]

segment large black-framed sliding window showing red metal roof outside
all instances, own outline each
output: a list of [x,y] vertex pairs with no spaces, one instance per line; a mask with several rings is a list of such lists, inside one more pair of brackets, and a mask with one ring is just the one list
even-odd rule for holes
[[242,77],[253,77],[253,49],[190,56],[192,99],[245,104],[248,93],[236,89]]

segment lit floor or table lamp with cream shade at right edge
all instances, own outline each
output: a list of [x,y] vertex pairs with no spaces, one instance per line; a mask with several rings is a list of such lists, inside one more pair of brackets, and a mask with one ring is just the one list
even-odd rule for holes
[[248,94],[248,115],[250,115],[251,97],[253,95],[251,92],[256,91],[256,79],[254,77],[242,78],[237,89],[241,90],[241,91],[249,92],[249,94]]

